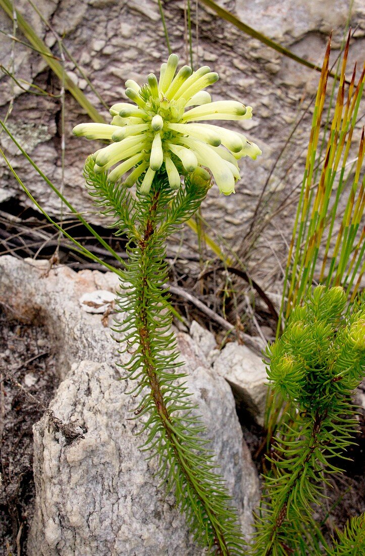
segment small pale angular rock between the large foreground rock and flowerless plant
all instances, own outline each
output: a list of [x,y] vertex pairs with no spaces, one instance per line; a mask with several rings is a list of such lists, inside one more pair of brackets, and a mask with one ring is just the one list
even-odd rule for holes
[[266,365],[247,346],[227,344],[216,358],[213,370],[228,380],[257,422],[263,424],[267,393]]

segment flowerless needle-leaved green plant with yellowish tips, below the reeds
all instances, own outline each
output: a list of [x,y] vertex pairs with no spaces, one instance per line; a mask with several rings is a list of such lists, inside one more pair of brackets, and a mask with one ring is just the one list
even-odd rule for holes
[[291,410],[275,439],[253,554],[301,554],[306,529],[312,543],[319,533],[313,504],[328,475],[341,471],[333,458],[344,458],[352,444],[357,421],[349,395],[365,366],[364,296],[344,317],[345,307],[341,287],[316,287],[267,349],[273,391]]

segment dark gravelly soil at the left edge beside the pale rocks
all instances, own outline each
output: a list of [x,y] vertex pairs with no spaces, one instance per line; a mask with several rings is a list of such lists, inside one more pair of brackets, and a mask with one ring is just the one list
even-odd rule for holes
[[[7,380],[11,373],[39,404]],[[52,348],[42,326],[0,314],[0,554],[27,554],[34,502],[32,426],[57,388]]]

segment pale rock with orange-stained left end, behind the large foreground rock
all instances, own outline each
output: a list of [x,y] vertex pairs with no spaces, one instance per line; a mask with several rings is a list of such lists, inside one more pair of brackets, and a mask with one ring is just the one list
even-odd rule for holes
[[117,361],[118,344],[108,327],[103,326],[103,315],[87,313],[79,305],[84,294],[111,290],[111,284],[115,292],[117,283],[116,277],[102,272],[76,273],[66,266],[49,269],[48,261],[0,258],[0,299],[7,305],[11,302],[13,317],[41,321],[48,327],[60,379],[76,361]]

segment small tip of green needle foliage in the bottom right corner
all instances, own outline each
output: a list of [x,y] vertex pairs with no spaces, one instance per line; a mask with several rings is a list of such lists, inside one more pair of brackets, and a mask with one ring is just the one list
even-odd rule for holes
[[362,556],[365,554],[365,514],[349,520],[338,540],[328,550],[329,556]]

